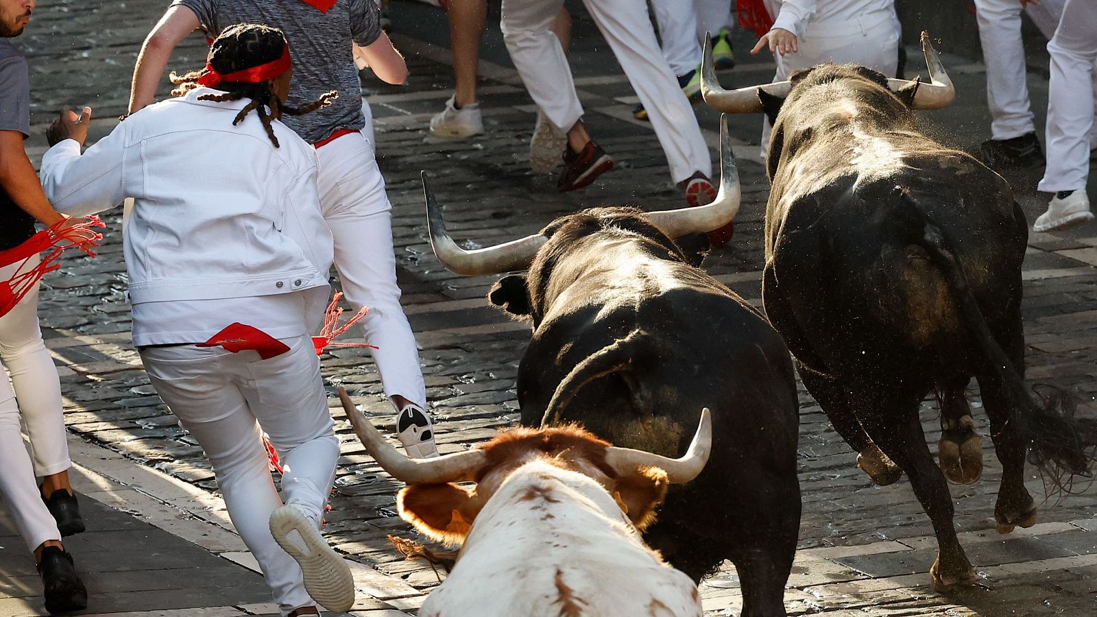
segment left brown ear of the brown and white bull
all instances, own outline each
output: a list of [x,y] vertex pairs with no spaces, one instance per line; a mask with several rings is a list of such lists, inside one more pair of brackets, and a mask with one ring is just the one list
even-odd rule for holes
[[400,518],[446,546],[465,540],[479,504],[476,490],[456,484],[412,484],[396,497]]

